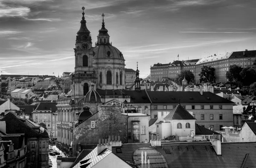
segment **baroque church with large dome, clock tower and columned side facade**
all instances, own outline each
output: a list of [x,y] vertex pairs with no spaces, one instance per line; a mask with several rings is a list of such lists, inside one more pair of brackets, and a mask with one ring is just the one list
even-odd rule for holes
[[[108,30],[105,28],[104,14],[102,14],[102,27],[99,29],[97,42],[93,46],[84,17],[84,7],[82,10],[81,26],[77,32],[74,48],[75,72],[72,76],[72,90],[58,98],[56,105],[57,146],[66,153],[72,146],[73,123],[83,118],[84,107],[90,107],[90,113],[93,114],[102,104],[121,105],[121,102],[131,102],[131,96],[125,93],[125,59],[122,52],[110,42]],[[135,89],[140,90],[140,71],[137,69],[136,72]]]

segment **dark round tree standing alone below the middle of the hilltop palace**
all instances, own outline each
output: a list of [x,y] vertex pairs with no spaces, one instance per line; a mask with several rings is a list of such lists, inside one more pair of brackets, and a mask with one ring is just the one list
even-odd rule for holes
[[214,67],[207,67],[204,66],[201,68],[201,72],[200,74],[198,74],[200,76],[200,83],[205,82],[214,82],[215,83],[215,68]]

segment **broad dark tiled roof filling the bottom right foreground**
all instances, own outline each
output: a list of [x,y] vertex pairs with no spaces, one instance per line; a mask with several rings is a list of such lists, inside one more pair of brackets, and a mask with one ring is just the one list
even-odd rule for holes
[[[244,168],[256,167],[256,142],[222,142],[221,155],[217,155],[210,142],[165,143],[155,147],[166,159],[169,168]],[[150,147],[149,143],[122,144],[112,147],[112,152],[125,161],[133,162],[132,154],[141,147]],[[116,153],[121,148],[122,153]],[[247,159],[245,156],[247,155]]]

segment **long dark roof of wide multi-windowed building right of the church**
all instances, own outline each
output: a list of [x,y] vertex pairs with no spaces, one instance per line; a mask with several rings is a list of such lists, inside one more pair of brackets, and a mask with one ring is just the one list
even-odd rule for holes
[[[183,92],[183,91],[147,91],[152,103],[218,103],[234,104],[233,101],[222,98],[211,92]],[[180,99],[180,100],[179,100]]]

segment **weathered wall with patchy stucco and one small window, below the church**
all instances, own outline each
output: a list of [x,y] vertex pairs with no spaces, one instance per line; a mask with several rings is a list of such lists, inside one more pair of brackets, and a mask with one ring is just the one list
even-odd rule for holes
[[[126,116],[121,114],[120,106],[99,106],[98,112],[89,119],[81,122],[73,130],[73,150],[82,143],[98,143],[99,139],[109,135],[119,135],[120,140],[126,142]],[[95,122],[92,128],[91,123]],[[73,154],[76,152],[73,151]]]

